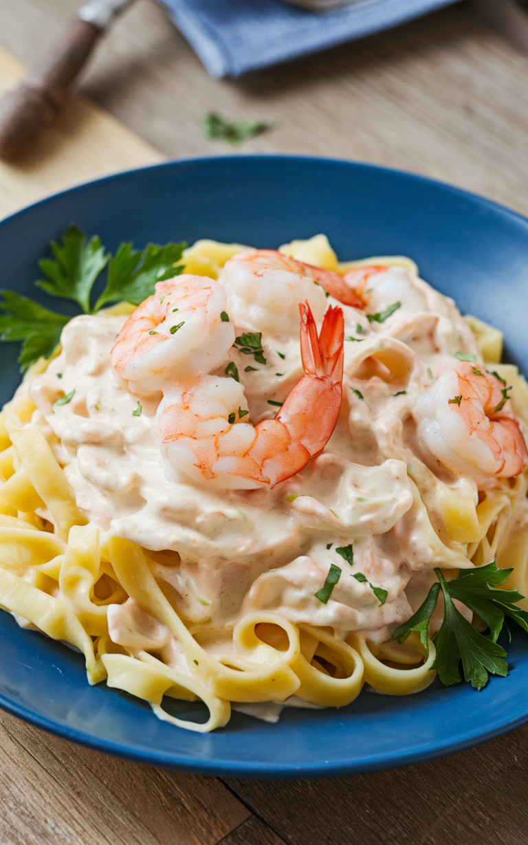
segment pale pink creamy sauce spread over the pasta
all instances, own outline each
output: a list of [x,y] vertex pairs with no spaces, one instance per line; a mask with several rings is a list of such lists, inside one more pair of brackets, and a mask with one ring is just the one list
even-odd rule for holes
[[[152,432],[161,395],[133,395],[110,366],[124,317],[73,319],[63,330],[60,356],[31,379],[33,422],[47,433],[52,428],[52,449],[79,507],[103,532],[173,553],[154,556],[152,565],[193,631],[231,630],[255,609],[279,611],[294,623],[377,630],[407,619],[430,586],[441,563],[438,537],[411,477],[422,473],[427,503],[427,488],[433,495],[435,478],[446,472],[420,452],[411,410],[456,351],[480,357],[454,303],[407,270],[391,268],[370,288],[369,313],[396,300],[400,308],[382,323],[343,308],[346,338],[355,340],[345,342],[335,433],[322,455],[272,490],[206,488],[167,468]],[[332,297],[325,303],[339,304]],[[251,325],[235,328],[238,335]],[[236,364],[253,424],[274,417],[269,399],[284,401],[302,377],[298,339],[263,333],[262,340],[265,366],[254,363],[246,373],[253,357],[233,347],[215,372],[224,376],[229,361]],[[382,372],[387,350],[398,363],[389,379]],[[53,412],[53,403],[72,390],[73,399]],[[335,551],[349,545],[352,565]],[[456,565],[463,549],[449,548]],[[324,604],[314,594],[330,564],[342,573]],[[368,581],[388,591],[383,605]],[[137,637],[140,621],[113,616],[117,638]],[[163,635],[145,630],[144,638],[157,642]]]

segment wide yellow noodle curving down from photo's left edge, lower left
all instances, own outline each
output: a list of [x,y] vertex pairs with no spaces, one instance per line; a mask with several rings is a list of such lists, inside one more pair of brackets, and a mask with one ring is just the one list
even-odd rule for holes
[[60,599],[48,596],[12,572],[0,570],[0,605],[28,619],[52,640],[65,640],[77,646],[86,659],[90,684],[105,679],[106,669],[96,661],[90,637]]

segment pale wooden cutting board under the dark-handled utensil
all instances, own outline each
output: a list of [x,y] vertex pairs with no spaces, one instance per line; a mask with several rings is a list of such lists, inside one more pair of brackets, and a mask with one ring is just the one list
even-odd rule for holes
[[[24,65],[0,47],[0,96],[24,74]],[[64,188],[163,159],[115,117],[72,96],[29,155],[15,163],[0,161],[0,218]]]

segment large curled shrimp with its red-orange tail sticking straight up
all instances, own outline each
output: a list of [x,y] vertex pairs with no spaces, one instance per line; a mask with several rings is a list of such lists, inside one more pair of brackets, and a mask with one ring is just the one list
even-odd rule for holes
[[324,449],[340,412],[343,313],[330,307],[318,337],[308,303],[298,307],[305,374],[275,419],[246,422],[235,379],[206,375],[174,384],[155,422],[171,466],[218,488],[271,488]]

